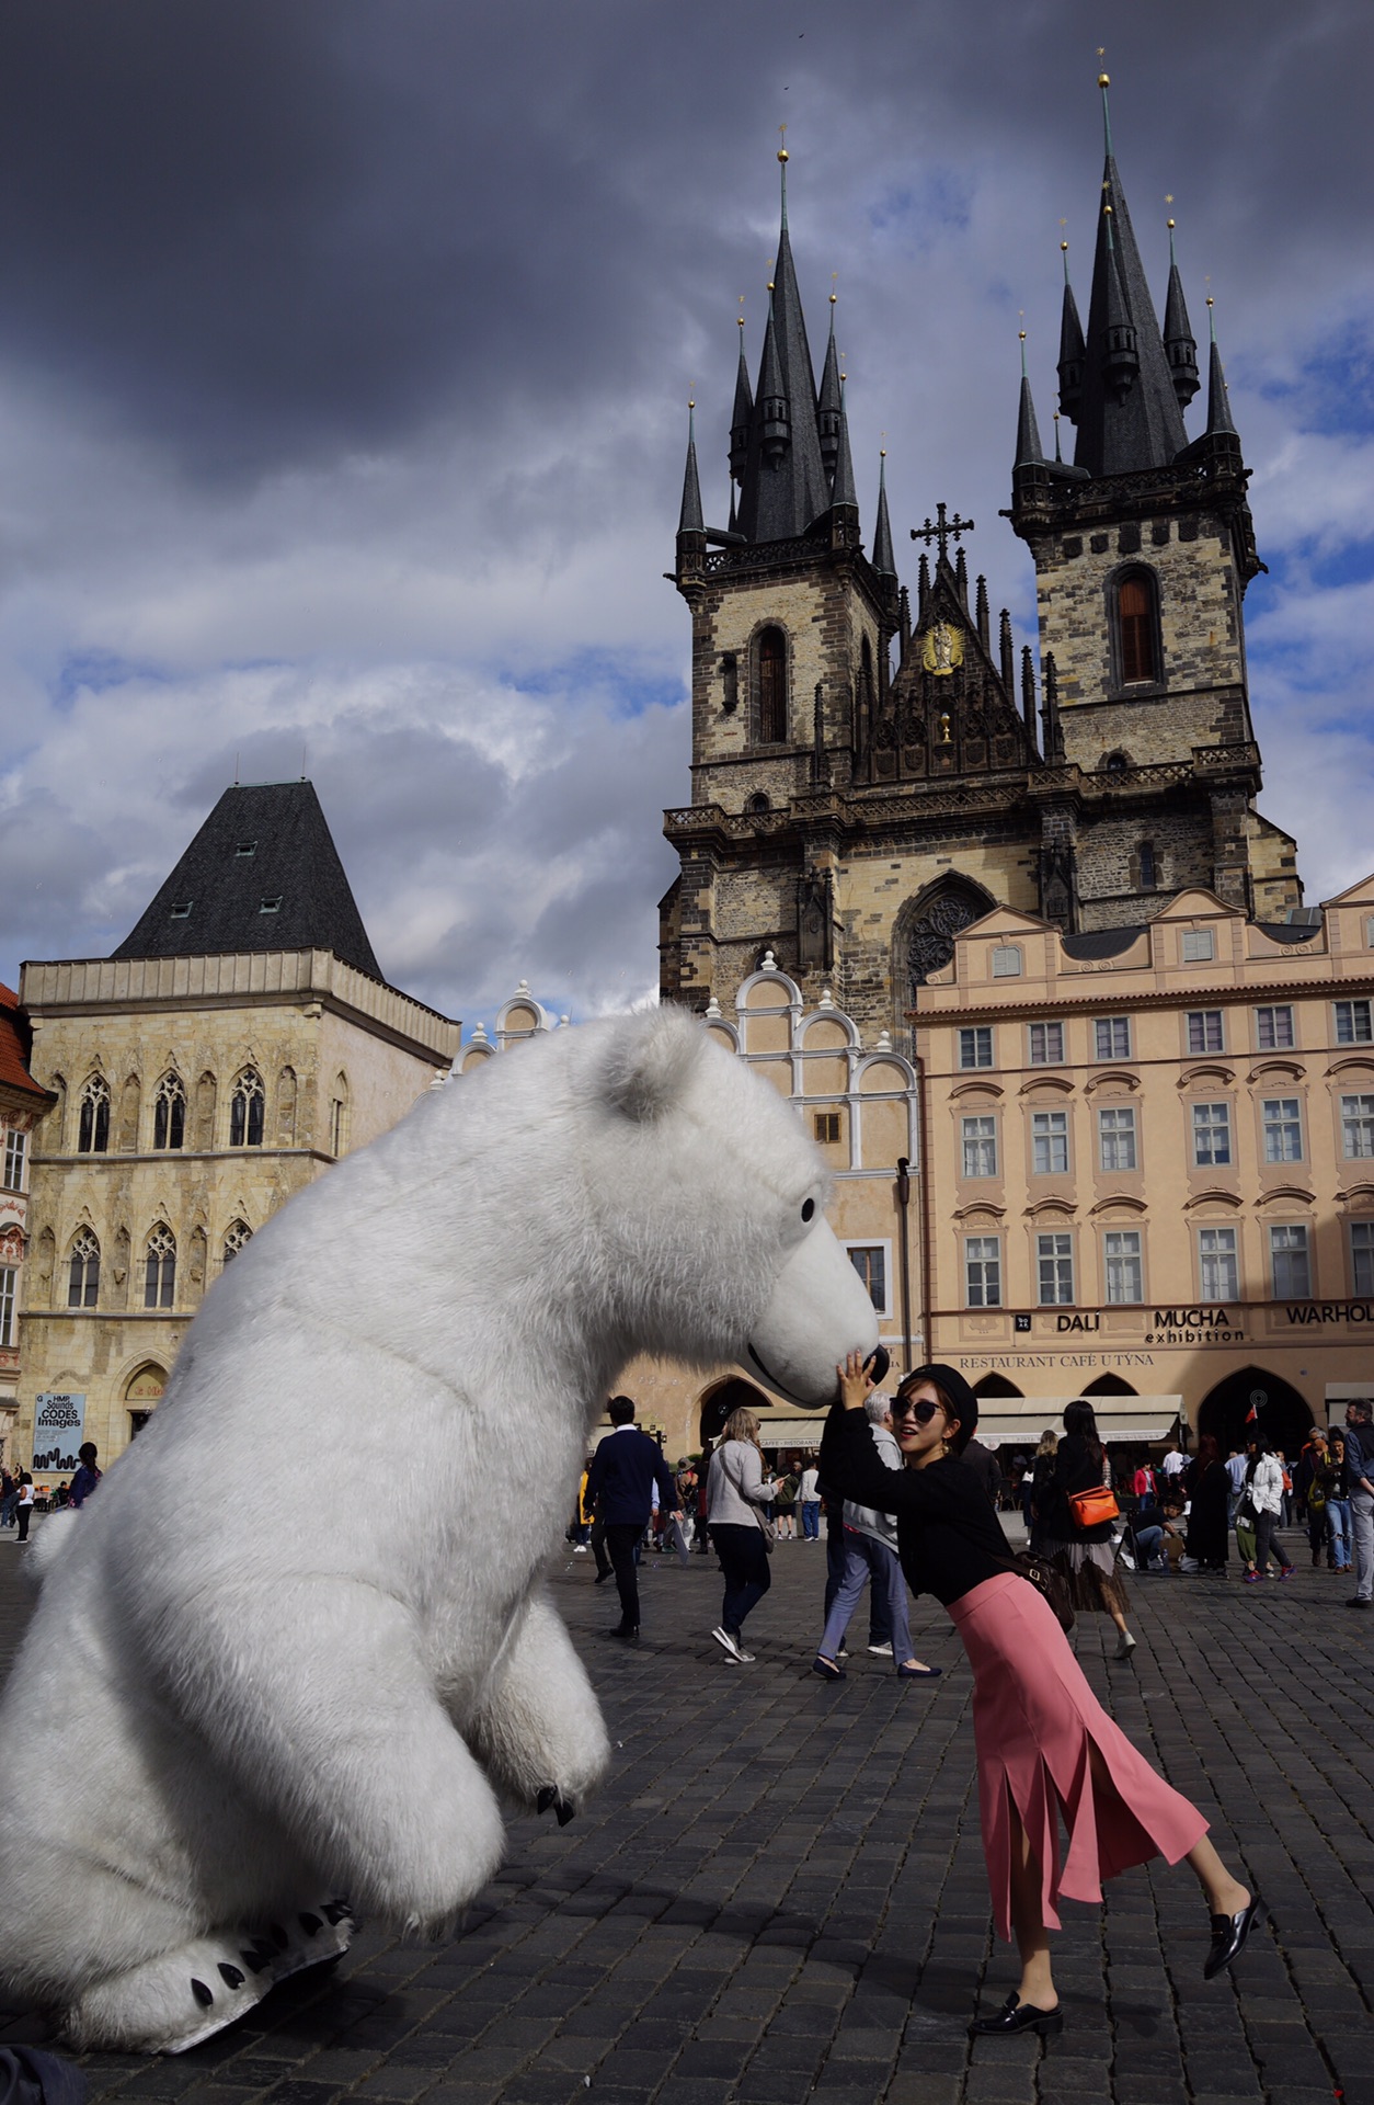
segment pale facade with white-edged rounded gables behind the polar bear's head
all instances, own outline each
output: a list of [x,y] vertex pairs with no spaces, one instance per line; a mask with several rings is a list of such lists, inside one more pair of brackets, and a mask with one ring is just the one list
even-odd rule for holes
[[[720,1004],[707,1010],[707,1029],[787,1097],[812,1135],[831,1172],[827,1219],[865,1280],[877,1328],[894,1366],[920,1364],[920,1274],[915,1206],[915,1071],[886,1038],[865,1046],[852,1017],[821,991],[808,1004],[795,979],[764,958],[732,991],[732,1017]],[[539,1031],[566,1025],[543,1008],[522,981],[503,1004],[488,1034],[471,1031],[450,1088],[484,1061]],[[713,1400],[724,1383],[745,1383],[762,1421],[762,1442],[772,1452],[808,1450],[821,1438],[821,1419],[779,1404],[739,1366],[705,1372],[663,1360],[633,1360],[621,1389],[640,1406],[640,1423],[663,1434],[669,1459],[694,1455],[711,1436]],[[608,1421],[606,1421],[608,1423]]]

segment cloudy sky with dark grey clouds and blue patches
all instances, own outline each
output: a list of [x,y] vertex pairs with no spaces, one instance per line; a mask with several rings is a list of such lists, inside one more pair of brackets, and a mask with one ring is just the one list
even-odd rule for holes
[[686,396],[722,522],[776,126],[865,522],[886,432],[898,543],[972,514],[1021,640],[1016,328],[1048,429],[1098,44],[1254,469],[1262,806],[1309,899],[1374,865],[1368,0],[8,0],[0,977],[112,949],[236,773],[305,770],[393,983],[646,996]]

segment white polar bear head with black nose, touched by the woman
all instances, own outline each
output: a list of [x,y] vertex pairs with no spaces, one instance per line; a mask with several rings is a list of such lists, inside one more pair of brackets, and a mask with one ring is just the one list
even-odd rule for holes
[[585,1189],[635,1347],[739,1360],[791,1402],[831,1402],[877,1320],[795,1109],[680,1008],[568,1036]]

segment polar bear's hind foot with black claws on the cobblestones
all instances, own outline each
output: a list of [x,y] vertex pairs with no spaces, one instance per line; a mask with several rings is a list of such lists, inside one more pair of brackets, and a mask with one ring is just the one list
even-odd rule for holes
[[183,2054],[231,2025],[263,1996],[347,1951],[356,1930],[347,1901],[314,1901],[255,1930],[198,1937],[175,1951],[97,1981],[61,2021],[76,2048]]

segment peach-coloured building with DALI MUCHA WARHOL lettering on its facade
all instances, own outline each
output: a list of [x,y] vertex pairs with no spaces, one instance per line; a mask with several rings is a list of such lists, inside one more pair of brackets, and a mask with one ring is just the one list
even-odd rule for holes
[[1254,1408],[1292,1455],[1374,1394],[1374,878],[1311,926],[1201,888],[1077,937],[997,907],[913,1025],[932,1358],[995,1436],[1088,1394],[1225,1444]]

